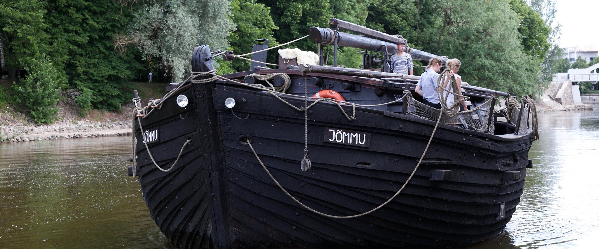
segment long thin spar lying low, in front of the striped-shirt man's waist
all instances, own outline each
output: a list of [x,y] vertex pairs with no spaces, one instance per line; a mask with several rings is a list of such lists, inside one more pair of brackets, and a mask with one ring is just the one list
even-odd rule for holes
[[411,79],[418,81],[420,76],[415,75],[404,75],[403,73],[386,73],[378,71],[369,71],[353,68],[333,67],[333,66],[317,66],[308,64],[299,64],[298,70],[302,73],[334,73],[342,75],[362,76],[368,78],[383,78],[383,77],[395,77],[401,79]]

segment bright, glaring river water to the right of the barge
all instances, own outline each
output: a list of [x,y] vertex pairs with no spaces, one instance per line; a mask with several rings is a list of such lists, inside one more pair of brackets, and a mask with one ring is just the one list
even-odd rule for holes
[[541,113],[512,221],[472,248],[595,248],[599,236],[599,107]]

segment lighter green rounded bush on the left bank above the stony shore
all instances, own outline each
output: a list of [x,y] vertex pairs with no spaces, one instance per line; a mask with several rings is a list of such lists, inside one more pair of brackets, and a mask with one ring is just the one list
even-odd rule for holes
[[28,60],[25,69],[26,78],[13,85],[14,101],[25,107],[35,122],[53,122],[58,112],[58,86],[62,84],[58,70],[43,54]]

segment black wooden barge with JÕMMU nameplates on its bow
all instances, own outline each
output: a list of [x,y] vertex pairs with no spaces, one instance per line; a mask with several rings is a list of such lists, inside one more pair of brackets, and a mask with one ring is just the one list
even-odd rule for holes
[[[207,45],[196,48],[193,71],[213,69],[209,57]],[[256,73],[288,75],[286,93],[291,95],[279,97],[299,109],[304,87],[308,96],[334,90],[347,102],[361,104],[391,102],[415,87],[403,79],[302,74],[298,69],[224,76],[235,82],[209,81],[211,76],[202,74],[170,87],[173,97],[159,100],[160,108],[152,102],[134,119],[134,174],[150,215],[176,247],[459,248],[497,235],[516,210],[531,167],[533,137],[525,100],[506,113],[516,116],[512,121],[490,115],[491,132],[439,124],[418,170],[397,197],[365,216],[332,219],[285,195],[248,143],[298,201],[322,213],[351,216],[379,206],[404,185],[436,120],[410,115],[406,101],[356,106],[350,120],[337,104],[323,101],[308,109],[304,127],[304,112],[265,90],[239,84],[268,86],[251,75]],[[493,95],[508,96],[476,87],[467,87],[465,94],[472,106]],[[179,96],[186,99],[183,107]],[[232,107],[229,98],[235,100]],[[353,113],[350,104],[341,108]],[[308,171],[300,168],[305,134]],[[335,139],[338,135],[347,140]]]

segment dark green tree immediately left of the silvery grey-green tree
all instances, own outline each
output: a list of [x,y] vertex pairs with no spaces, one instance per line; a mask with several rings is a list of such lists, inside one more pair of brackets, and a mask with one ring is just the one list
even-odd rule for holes
[[113,39],[132,19],[129,8],[113,0],[47,1],[49,58],[69,87],[81,92],[81,113],[92,107],[117,110],[128,99],[123,92],[140,64],[135,51],[119,54]]

